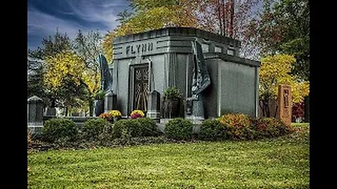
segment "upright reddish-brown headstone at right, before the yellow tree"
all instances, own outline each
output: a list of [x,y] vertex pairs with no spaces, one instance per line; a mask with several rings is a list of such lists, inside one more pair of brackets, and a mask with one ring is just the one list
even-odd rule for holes
[[279,85],[279,111],[278,118],[286,125],[291,124],[291,86]]

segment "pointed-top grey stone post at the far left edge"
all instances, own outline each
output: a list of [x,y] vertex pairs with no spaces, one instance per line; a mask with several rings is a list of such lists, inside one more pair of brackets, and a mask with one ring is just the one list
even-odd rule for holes
[[28,130],[41,132],[44,127],[44,101],[37,96],[27,99]]

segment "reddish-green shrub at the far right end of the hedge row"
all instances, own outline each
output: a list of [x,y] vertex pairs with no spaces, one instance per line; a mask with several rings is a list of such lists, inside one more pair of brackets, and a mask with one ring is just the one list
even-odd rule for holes
[[256,130],[256,138],[279,137],[291,133],[290,126],[285,125],[281,120],[276,118],[257,118],[253,121],[253,129]]

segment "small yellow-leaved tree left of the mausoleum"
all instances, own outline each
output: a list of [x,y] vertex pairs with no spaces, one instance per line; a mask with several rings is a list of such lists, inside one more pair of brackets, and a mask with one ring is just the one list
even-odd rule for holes
[[[81,97],[84,61],[74,54],[66,51],[55,56],[46,57],[46,73],[44,83],[53,102],[59,102],[66,109],[74,104],[76,98]],[[52,104],[52,107],[55,104]]]

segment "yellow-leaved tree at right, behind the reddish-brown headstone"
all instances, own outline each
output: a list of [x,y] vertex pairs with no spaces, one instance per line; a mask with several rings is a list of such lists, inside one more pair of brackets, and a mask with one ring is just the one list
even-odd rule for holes
[[[259,72],[259,104],[263,116],[271,117],[270,103],[277,99],[280,84],[291,85],[293,104],[303,102],[309,94],[309,82],[291,76],[291,66],[296,62],[293,55],[272,55],[261,59]],[[274,115],[275,117],[276,115]]]

